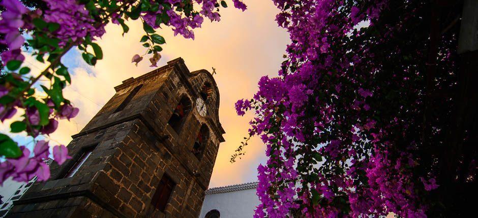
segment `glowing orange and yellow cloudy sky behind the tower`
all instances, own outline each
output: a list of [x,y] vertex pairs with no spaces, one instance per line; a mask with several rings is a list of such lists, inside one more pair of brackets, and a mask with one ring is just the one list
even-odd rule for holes
[[[210,187],[257,180],[257,165],[265,162],[264,146],[259,138],[250,140],[245,158],[233,164],[229,162],[231,154],[247,135],[248,122],[252,118],[250,113],[238,117],[234,103],[241,98],[251,98],[257,91],[260,77],[277,75],[289,43],[287,32],[277,26],[275,16],[279,10],[272,1],[244,2],[248,5],[245,12],[228,2],[228,8],[221,8],[220,22],[204,20],[202,28],[194,30],[194,41],[180,35],[174,37],[168,28],[158,29],[166,39],[158,66],[182,57],[191,71],[207,69],[211,72],[215,67],[218,73],[214,78],[220,91],[219,117],[226,131],[223,135],[226,142],[219,148]],[[80,114],[73,122],[60,121],[58,130],[51,135],[53,143],[68,144],[70,136],[81,130],[114,95],[114,86],[154,69],[149,67],[149,56],[145,56],[137,67],[131,63],[132,56],[144,54],[145,49],[139,43],[143,35],[141,23],[135,21],[128,25],[130,31],[124,37],[121,27],[114,24],[106,27],[107,33],[98,41],[104,58],[95,67],[86,65],[77,51],[71,51],[62,59],[73,74],[72,85],[64,90],[64,95],[80,108]],[[33,74],[44,68],[26,56]]]

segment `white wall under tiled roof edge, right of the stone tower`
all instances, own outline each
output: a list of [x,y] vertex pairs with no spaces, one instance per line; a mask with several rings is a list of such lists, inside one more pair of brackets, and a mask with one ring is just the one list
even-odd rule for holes
[[204,218],[206,213],[213,209],[219,210],[221,217],[249,218],[254,215],[259,203],[255,189],[208,194],[204,198],[199,218]]

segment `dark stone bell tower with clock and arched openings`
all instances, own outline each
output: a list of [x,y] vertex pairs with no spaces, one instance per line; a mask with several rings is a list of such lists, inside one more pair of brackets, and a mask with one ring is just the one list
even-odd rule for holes
[[224,141],[213,77],[177,58],[114,89],[7,217],[198,217]]

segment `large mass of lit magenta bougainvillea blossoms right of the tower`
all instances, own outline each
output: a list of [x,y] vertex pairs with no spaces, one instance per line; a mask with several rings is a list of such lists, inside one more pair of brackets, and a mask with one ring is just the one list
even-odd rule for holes
[[[288,59],[279,77],[259,80],[250,102],[235,104],[240,116],[256,109],[249,134],[259,135],[268,157],[257,169],[261,204],[255,217],[285,217],[291,211],[305,217],[378,217],[389,212],[426,217],[427,206],[417,192],[438,185],[434,178],[412,176],[415,144],[399,150],[401,145],[389,140],[391,131],[405,131],[407,125],[373,114],[370,102],[380,90],[367,80],[380,66],[366,57],[374,54],[349,47],[351,37],[362,34],[354,26],[364,20],[373,25],[389,1],[345,6],[339,0],[273,2],[281,10],[276,21],[292,41]],[[361,72],[359,66],[369,71]]]

